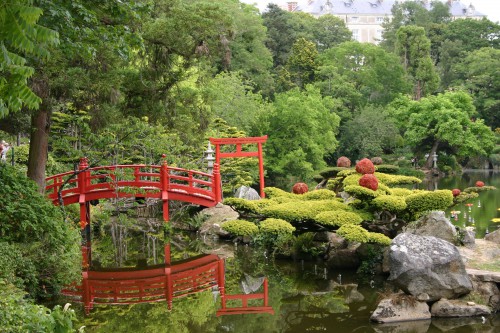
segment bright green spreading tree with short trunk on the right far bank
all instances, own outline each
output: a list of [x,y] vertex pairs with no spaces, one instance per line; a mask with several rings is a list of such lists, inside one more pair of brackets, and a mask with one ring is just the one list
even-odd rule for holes
[[429,153],[426,166],[440,150],[465,158],[487,156],[495,136],[482,119],[474,119],[472,98],[465,92],[447,92],[412,101],[396,99],[389,108],[406,143],[420,153]]

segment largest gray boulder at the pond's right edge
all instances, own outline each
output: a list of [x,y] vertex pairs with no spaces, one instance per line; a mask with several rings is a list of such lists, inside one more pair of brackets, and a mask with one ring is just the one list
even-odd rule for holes
[[402,233],[389,250],[390,276],[408,294],[429,295],[429,301],[454,299],[472,290],[458,249],[432,236]]

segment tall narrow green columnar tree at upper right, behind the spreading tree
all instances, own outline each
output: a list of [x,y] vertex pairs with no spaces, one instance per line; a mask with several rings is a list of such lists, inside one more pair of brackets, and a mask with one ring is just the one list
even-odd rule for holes
[[398,29],[396,51],[413,82],[413,97],[416,100],[434,92],[439,85],[439,76],[430,57],[430,46],[424,28],[404,26]]

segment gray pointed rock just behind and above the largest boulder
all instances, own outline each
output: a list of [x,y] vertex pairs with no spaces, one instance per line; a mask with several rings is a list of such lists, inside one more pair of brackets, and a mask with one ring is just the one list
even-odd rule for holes
[[457,242],[457,230],[442,211],[434,211],[422,216],[417,221],[408,224],[403,232],[419,236],[433,236],[452,244]]

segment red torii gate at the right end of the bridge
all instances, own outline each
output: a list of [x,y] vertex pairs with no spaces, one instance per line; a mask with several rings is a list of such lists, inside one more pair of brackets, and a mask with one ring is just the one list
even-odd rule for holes
[[[259,137],[246,137],[246,138],[210,138],[210,143],[215,145],[215,163],[220,165],[220,159],[234,158],[234,157],[258,157],[259,158],[259,178],[260,178],[260,196],[265,197],[264,193],[264,160],[262,157],[262,144],[267,141],[267,135]],[[242,151],[241,145],[244,144],[257,144],[257,151]],[[235,145],[236,151],[234,152],[221,152],[220,146],[222,145]]]

